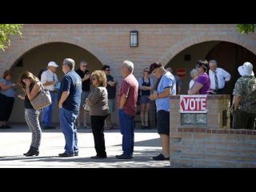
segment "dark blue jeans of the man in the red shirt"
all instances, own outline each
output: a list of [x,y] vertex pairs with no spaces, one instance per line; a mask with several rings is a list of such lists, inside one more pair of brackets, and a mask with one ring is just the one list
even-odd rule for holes
[[134,117],[127,115],[123,109],[119,109],[119,125],[123,135],[122,149],[125,155],[133,155],[134,147]]

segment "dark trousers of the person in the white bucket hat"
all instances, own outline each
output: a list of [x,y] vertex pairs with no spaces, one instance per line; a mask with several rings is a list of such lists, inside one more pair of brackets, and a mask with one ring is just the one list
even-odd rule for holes
[[233,113],[232,129],[254,129],[256,114],[236,109]]

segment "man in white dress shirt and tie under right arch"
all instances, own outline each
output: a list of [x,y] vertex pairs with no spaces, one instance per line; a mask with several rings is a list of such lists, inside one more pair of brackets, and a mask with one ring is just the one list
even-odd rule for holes
[[230,81],[231,75],[226,70],[217,67],[216,60],[210,60],[209,67],[210,94],[225,94],[225,83]]

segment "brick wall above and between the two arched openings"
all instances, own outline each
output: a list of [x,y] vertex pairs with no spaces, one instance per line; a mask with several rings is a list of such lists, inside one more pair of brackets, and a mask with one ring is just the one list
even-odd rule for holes
[[[139,47],[130,47],[129,33],[139,31]],[[239,35],[235,25],[24,25],[23,37],[15,36],[5,52],[0,53],[0,73],[9,69],[27,51],[50,42],[70,43],[92,53],[102,63],[110,63],[121,78],[124,59],[135,63],[135,75],[152,61],[164,65],[187,47],[205,41],[227,41],[244,46],[256,54],[256,36]]]

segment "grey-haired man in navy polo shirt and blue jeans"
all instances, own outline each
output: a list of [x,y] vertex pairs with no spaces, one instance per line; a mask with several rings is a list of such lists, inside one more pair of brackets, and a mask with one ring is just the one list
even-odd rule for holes
[[60,127],[65,136],[65,152],[60,157],[78,156],[77,129],[75,125],[79,113],[82,93],[81,77],[74,71],[75,61],[67,58],[63,61],[62,71],[65,74],[60,87],[59,115]]

